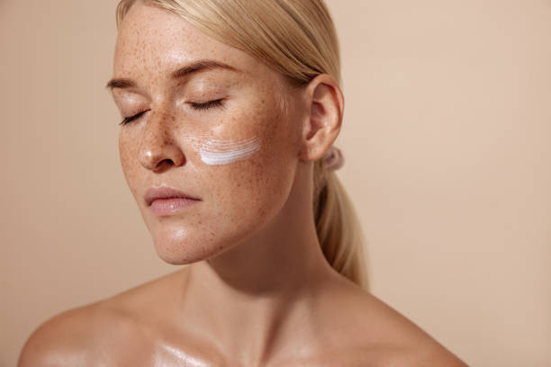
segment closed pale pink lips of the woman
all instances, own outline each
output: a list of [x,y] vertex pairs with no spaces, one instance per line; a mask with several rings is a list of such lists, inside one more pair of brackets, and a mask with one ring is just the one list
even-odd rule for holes
[[199,198],[167,186],[150,187],[144,200],[149,209],[160,216],[173,214],[201,202]]

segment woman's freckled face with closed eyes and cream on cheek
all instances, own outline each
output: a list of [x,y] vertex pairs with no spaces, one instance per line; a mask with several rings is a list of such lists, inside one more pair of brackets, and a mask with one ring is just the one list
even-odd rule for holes
[[[122,117],[138,115],[121,126],[122,169],[161,258],[190,264],[220,254],[283,208],[301,131],[282,76],[139,2],[122,22],[113,80]],[[149,206],[146,192],[161,186],[200,200]]]

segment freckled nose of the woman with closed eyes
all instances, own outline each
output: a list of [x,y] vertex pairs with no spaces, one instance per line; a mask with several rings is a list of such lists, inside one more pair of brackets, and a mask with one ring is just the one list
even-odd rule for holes
[[151,111],[138,150],[141,166],[161,173],[171,166],[183,166],[185,155],[174,137],[174,118]]

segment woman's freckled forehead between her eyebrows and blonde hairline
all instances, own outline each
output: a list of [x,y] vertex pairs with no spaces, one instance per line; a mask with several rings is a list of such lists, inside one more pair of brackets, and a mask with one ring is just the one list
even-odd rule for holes
[[241,70],[262,69],[244,51],[205,35],[180,15],[158,6],[134,4],[117,36],[114,76],[166,74],[199,59],[213,59]]

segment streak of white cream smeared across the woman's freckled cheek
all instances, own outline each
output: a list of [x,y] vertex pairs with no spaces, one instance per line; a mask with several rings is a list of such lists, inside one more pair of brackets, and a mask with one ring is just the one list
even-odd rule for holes
[[[198,139],[194,139],[199,143]],[[250,157],[260,148],[260,139],[242,140],[210,139],[200,143],[199,154],[209,166],[228,165]]]

